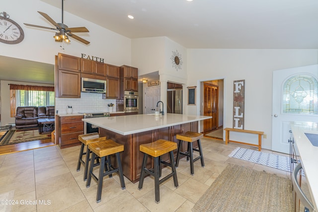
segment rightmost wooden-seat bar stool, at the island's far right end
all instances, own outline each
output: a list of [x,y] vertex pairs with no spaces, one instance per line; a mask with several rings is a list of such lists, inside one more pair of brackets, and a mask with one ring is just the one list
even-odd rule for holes
[[[176,139],[179,140],[179,145],[178,145],[177,158],[175,160],[175,166],[178,167],[180,154],[187,156],[187,160],[189,160],[190,158],[191,175],[194,174],[193,163],[197,161],[198,159],[201,159],[201,166],[204,167],[204,160],[203,160],[202,147],[201,147],[201,141],[200,141],[201,138],[203,138],[202,133],[195,133],[191,131],[188,131],[185,134],[176,135]],[[188,149],[185,152],[180,151],[183,141],[188,142]],[[193,148],[193,141],[198,142],[198,149]],[[193,159],[193,151],[198,151],[200,153],[200,155],[196,157],[195,159]]]

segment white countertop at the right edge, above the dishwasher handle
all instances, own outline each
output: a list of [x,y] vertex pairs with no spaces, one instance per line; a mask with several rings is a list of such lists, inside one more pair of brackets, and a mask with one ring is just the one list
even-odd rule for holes
[[305,171],[315,210],[318,210],[318,146],[312,145],[305,133],[318,134],[318,123],[292,122],[291,129]]

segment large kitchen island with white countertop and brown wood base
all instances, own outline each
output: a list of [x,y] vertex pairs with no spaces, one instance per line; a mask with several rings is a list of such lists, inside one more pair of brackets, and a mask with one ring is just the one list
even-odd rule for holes
[[[196,116],[185,114],[139,114],[130,116],[101,117],[82,119],[82,121],[99,127],[100,136],[106,136],[115,142],[124,145],[121,161],[124,175],[133,183],[139,181],[143,153],[139,145],[164,139],[178,142],[176,134],[187,131],[198,132],[199,121],[210,119],[211,116]],[[182,150],[185,149],[185,145]],[[174,152],[176,157],[176,150]],[[162,156],[168,160],[168,155]],[[148,160],[147,166],[153,167]]]

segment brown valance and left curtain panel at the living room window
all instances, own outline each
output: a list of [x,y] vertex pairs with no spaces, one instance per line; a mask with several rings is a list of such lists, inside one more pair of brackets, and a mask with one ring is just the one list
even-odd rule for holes
[[39,91],[54,91],[54,87],[51,86],[37,86],[37,85],[17,85],[10,84],[10,116],[15,117],[16,102],[15,102],[15,90],[39,90]]

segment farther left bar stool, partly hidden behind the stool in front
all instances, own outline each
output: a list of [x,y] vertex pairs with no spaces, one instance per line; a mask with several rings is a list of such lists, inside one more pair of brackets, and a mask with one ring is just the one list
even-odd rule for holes
[[[77,171],[80,170],[80,164],[83,164],[83,166],[84,166],[84,181],[87,180],[88,164],[89,164],[89,160],[90,160],[90,158],[89,158],[90,151],[88,149],[88,143],[97,142],[97,141],[105,140],[105,139],[106,139],[106,137],[99,137],[98,133],[79,135],[79,141],[81,142],[81,145],[80,145],[80,150],[79,150],[79,161],[78,161]],[[84,146],[87,146],[85,152],[84,152]],[[86,155],[85,161],[82,159],[83,155]],[[98,163],[96,165],[98,165]]]

